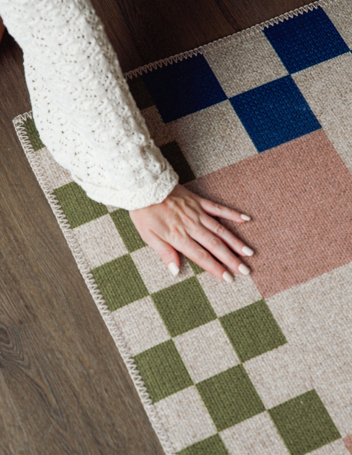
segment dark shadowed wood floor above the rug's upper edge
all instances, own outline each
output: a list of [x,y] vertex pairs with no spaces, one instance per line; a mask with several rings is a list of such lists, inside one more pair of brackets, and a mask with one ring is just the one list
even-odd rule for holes
[[122,70],[127,72],[244,30],[306,5],[307,1],[93,0],[92,3],[103,20]]

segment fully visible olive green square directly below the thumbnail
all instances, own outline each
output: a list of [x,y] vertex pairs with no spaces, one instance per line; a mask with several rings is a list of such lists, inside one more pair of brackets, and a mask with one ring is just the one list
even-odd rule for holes
[[185,279],[151,295],[172,337],[216,319],[196,277]]

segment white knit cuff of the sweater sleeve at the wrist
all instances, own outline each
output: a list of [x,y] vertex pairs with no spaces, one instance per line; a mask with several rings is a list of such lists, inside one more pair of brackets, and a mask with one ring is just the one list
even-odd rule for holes
[[137,210],[149,205],[162,202],[179,182],[179,175],[173,170],[167,159],[166,168],[158,179],[147,187],[137,190],[116,190],[114,188],[93,185],[83,182],[81,178],[71,173],[73,180],[86,192],[87,196],[96,202],[126,210]]

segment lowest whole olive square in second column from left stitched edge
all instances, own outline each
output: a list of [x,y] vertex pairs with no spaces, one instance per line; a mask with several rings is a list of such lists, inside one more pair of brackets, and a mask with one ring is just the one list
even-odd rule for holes
[[196,386],[218,431],[265,410],[242,364],[215,374]]

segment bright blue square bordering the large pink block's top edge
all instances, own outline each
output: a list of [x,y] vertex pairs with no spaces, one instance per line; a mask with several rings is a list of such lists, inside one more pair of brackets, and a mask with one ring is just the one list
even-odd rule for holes
[[230,98],[258,152],[321,128],[291,76]]

